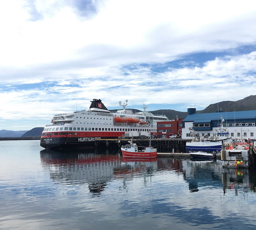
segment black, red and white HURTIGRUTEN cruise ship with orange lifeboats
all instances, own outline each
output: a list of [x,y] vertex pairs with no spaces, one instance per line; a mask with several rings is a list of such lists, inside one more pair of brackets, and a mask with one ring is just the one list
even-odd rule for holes
[[40,145],[45,149],[94,146],[96,139],[130,138],[157,132],[157,122],[168,121],[165,115],[146,111],[134,113],[126,109],[128,100],[117,112],[109,111],[100,99],[93,99],[87,110],[53,116],[51,124],[42,131]]

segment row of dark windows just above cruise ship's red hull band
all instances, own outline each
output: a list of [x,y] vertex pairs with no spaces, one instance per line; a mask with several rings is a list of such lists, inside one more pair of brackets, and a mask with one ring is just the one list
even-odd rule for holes
[[87,127],[61,127],[61,128],[45,128],[43,132],[51,131],[147,131],[155,132],[155,129],[127,129],[127,128],[87,128]]

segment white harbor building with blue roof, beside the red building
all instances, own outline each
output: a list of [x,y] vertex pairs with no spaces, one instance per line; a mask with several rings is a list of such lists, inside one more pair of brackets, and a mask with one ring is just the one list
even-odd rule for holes
[[256,139],[256,110],[196,113],[195,108],[188,108],[188,114],[182,121],[182,138],[192,140],[192,128],[201,137],[213,136],[222,121],[233,140]]

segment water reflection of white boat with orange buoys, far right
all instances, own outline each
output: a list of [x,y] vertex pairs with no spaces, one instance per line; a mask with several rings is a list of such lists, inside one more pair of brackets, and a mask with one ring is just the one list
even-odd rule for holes
[[248,168],[223,168],[222,183],[224,194],[227,190],[234,190],[235,193],[239,190],[256,192],[256,173]]

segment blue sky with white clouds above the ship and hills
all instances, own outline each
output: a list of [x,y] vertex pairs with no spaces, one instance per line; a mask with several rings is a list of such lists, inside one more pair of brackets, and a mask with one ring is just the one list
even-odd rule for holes
[[89,108],[201,110],[255,95],[256,1],[0,1],[0,130]]

